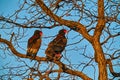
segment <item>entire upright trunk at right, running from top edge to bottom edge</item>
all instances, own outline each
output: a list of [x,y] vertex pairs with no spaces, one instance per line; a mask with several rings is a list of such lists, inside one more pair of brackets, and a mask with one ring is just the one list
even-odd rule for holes
[[106,60],[103,49],[100,44],[100,36],[105,27],[104,18],[104,0],[98,0],[98,23],[95,28],[93,35],[93,48],[95,50],[95,61],[98,63],[99,67],[99,80],[107,80],[107,69]]

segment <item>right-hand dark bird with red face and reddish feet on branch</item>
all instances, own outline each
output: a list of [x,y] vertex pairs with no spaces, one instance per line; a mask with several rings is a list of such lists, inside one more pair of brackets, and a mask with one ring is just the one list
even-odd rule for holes
[[48,60],[60,60],[61,53],[67,44],[66,33],[67,30],[60,30],[56,38],[48,44],[48,48],[45,51]]

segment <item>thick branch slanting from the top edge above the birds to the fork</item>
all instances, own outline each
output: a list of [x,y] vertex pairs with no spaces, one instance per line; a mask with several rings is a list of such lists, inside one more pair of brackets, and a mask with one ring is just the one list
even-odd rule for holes
[[47,15],[49,15],[51,18],[53,18],[55,21],[57,21],[61,25],[68,26],[71,29],[75,28],[74,30],[81,33],[84,38],[86,38],[88,41],[92,42],[92,37],[88,34],[86,28],[82,24],[80,24],[78,22],[74,22],[74,21],[64,20],[64,19],[58,17],[44,4],[44,2],[42,0],[36,0],[36,2],[42,8],[42,10]]

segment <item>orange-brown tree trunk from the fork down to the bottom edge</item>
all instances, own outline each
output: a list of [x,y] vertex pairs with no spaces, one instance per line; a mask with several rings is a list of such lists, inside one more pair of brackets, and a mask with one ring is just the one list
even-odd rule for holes
[[98,63],[98,69],[99,69],[99,80],[107,80],[107,64],[106,59],[101,47],[100,42],[97,38],[94,38],[93,40],[93,47],[95,50],[95,61]]

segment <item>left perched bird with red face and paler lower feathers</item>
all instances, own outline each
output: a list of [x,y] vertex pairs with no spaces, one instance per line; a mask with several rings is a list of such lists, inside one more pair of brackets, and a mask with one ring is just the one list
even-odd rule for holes
[[37,52],[41,46],[42,31],[36,30],[32,37],[28,40],[27,54],[32,60],[35,59]]

